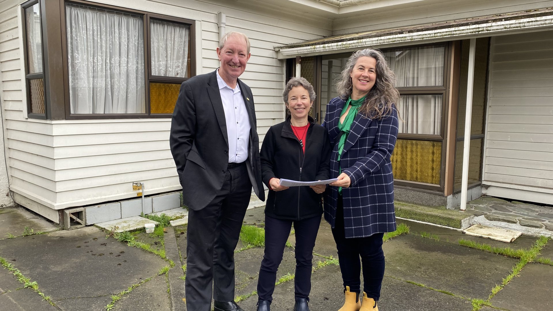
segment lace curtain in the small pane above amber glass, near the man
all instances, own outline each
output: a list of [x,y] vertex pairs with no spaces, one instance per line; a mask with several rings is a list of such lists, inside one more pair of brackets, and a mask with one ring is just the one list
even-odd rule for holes
[[190,27],[152,19],[150,33],[152,75],[186,77]]

